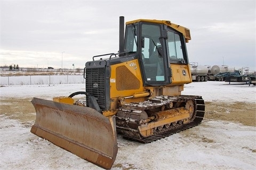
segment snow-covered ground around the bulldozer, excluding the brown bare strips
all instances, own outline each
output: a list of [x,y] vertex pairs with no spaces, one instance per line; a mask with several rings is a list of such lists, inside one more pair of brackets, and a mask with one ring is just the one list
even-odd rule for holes
[[[0,107],[8,105],[2,102],[7,98],[52,99],[84,89],[84,84],[0,87]],[[193,82],[182,94],[203,96],[209,102],[256,104],[252,84]],[[21,122],[0,111],[0,169],[101,169],[30,133],[34,121]],[[255,141],[255,126],[204,119],[195,128],[148,144],[118,136],[112,169],[256,169]]]

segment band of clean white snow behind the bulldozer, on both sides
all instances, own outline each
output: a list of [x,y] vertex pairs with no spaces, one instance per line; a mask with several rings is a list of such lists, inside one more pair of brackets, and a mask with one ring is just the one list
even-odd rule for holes
[[[85,84],[37,84],[5,86],[0,89],[1,97],[39,97],[51,99],[68,96],[76,91],[84,91]],[[182,95],[202,96],[205,101],[246,101],[256,102],[256,88],[253,84],[219,81],[193,82],[185,84]]]

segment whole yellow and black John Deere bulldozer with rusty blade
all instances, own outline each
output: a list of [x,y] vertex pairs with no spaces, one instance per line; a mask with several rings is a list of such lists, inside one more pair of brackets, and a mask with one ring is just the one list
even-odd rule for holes
[[[125,27],[125,28],[124,28]],[[201,96],[181,95],[191,83],[190,30],[167,20],[119,17],[119,50],[85,63],[85,91],[33,98],[31,132],[99,167],[110,169],[117,134],[149,143],[202,122]],[[74,96],[83,95],[75,100]]]

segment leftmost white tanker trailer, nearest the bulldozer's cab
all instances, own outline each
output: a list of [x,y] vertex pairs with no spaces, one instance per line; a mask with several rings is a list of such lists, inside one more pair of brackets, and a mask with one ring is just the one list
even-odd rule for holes
[[190,63],[190,72],[193,81],[207,81],[207,74],[210,72],[210,66],[198,65],[198,63]]

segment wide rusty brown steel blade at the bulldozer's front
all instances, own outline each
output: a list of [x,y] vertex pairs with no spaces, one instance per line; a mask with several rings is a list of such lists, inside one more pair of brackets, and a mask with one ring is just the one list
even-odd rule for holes
[[36,121],[31,132],[105,169],[117,155],[115,116],[90,107],[33,98]]

